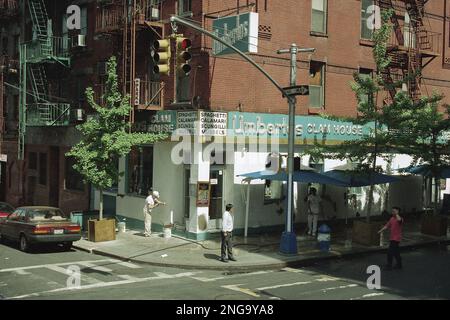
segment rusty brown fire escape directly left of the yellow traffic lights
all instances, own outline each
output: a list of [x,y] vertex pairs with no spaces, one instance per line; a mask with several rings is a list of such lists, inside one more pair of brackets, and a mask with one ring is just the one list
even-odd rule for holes
[[[138,36],[151,31],[151,37],[164,37],[161,0],[97,0],[99,7],[96,15],[96,33],[111,37],[119,47],[122,46],[118,68],[122,92],[131,96],[135,107],[130,114],[134,122],[134,110],[160,110],[163,108],[164,83],[152,79],[148,70],[136,70],[137,60],[145,61],[148,57],[136,57]],[[147,34],[148,36],[148,34]],[[145,41],[150,43],[150,40]],[[148,45],[139,43],[139,46]],[[147,51],[150,56],[150,49]],[[101,69],[104,70],[104,67]],[[104,73],[104,71],[103,71]],[[101,102],[103,89],[97,90]]]

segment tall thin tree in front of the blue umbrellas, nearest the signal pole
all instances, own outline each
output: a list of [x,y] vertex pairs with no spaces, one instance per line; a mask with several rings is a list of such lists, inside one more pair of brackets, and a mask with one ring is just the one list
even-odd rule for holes
[[[327,154],[328,157],[334,159],[351,158],[359,164],[358,171],[368,174],[369,179],[372,173],[380,170],[377,166],[377,158],[385,155],[391,149],[392,141],[392,132],[385,130],[384,108],[379,106],[378,94],[386,89],[392,89],[393,86],[401,86],[399,83],[388,83],[383,77],[383,72],[390,64],[390,58],[387,54],[387,41],[392,30],[392,26],[388,22],[391,15],[392,11],[383,11],[382,26],[373,33],[373,57],[377,66],[374,76],[367,77],[359,73],[353,75],[354,82],[351,83],[351,88],[358,101],[357,115],[355,117],[344,117],[321,114],[322,117],[327,119],[368,126],[371,128],[370,132],[363,134],[359,140],[345,141],[339,145],[315,143],[314,148],[308,151],[313,156]],[[374,185],[372,184],[368,199],[368,222],[372,211],[373,193]]]

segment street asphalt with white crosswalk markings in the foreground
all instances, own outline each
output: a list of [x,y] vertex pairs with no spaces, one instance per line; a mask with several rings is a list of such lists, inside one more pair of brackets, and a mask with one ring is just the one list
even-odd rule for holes
[[[23,253],[7,243],[0,244],[0,295],[12,300],[450,299],[448,247],[408,250],[403,259],[404,270],[381,271],[377,290],[367,287],[367,267],[382,266],[381,253],[233,273],[156,267],[54,246]],[[80,271],[79,286],[68,270]]]

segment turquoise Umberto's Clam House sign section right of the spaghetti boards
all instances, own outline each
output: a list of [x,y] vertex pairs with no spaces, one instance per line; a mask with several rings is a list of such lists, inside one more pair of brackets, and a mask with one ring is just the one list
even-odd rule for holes
[[[229,133],[234,136],[253,138],[277,137],[280,142],[288,138],[289,117],[282,114],[261,114],[230,112],[228,114]],[[326,143],[339,143],[358,140],[370,133],[370,126],[339,122],[317,116],[295,117],[295,138],[304,143],[325,140]]]

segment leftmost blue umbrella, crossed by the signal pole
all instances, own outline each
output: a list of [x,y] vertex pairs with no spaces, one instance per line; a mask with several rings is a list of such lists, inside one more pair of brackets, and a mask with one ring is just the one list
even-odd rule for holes
[[[288,175],[285,171],[280,171],[278,173],[273,173],[272,171],[257,171],[250,172],[239,175],[241,177],[246,177],[250,180],[261,179],[261,180],[275,180],[275,181],[287,181]],[[337,180],[333,177],[326,176],[325,174],[317,173],[314,171],[294,171],[293,179],[295,182],[302,183],[320,183],[320,184],[330,184],[340,187],[347,187],[344,181]]]

